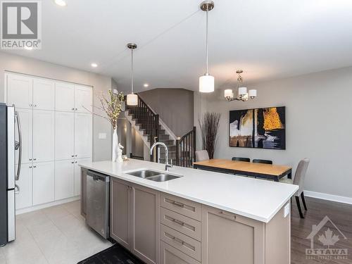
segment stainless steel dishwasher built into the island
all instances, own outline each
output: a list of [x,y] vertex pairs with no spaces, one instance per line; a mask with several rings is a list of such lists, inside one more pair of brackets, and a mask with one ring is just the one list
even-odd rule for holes
[[92,170],[87,172],[86,223],[102,237],[109,237],[110,177]]

